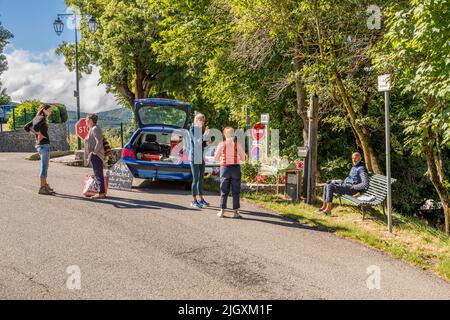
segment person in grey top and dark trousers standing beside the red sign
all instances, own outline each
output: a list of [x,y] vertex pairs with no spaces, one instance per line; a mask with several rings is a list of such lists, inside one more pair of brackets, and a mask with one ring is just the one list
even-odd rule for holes
[[97,126],[98,116],[96,114],[88,114],[86,122],[89,126],[89,134],[84,140],[85,163],[91,164],[95,178],[97,179],[99,190],[91,199],[106,198],[105,176],[103,174],[103,161],[105,150],[103,146],[103,133]]

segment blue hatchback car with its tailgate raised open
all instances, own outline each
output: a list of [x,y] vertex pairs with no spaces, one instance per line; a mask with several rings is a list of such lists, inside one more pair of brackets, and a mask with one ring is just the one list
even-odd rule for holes
[[122,160],[136,178],[192,181],[188,159],[191,106],[169,99],[135,100],[137,125],[122,150]]

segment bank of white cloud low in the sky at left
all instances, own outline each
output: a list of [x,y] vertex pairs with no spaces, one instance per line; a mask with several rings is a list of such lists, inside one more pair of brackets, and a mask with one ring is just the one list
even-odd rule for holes
[[[71,110],[76,109],[75,72],[69,72],[64,57],[57,56],[54,49],[41,53],[13,49],[6,58],[8,70],[1,81],[13,101],[60,102]],[[98,85],[99,78],[97,68],[90,75],[83,74],[80,80],[82,112],[100,112],[119,106],[114,95],[106,93],[104,85]]]

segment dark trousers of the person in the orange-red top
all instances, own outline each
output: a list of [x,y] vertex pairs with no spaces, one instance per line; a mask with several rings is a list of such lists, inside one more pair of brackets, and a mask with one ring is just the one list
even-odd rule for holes
[[241,194],[241,166],[234,165],[220,168],[220,207],[227,208],[227,198],[233,195],[233,210],[239,209]]

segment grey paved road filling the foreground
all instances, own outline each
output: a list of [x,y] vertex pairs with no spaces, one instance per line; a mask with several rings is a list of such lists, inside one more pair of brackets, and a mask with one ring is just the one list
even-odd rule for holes
[[[450,298],[431,273],[256,206],[240,220],[193,210],[176,184],[92,201],[80,197],[89,169],[52,164],[60,194],[39,196],[38,163],[24,157],[0,153],[3,299]],[[80,290],[67,289],[74,265]],[[366,284],[372,265],[380,290]]]

